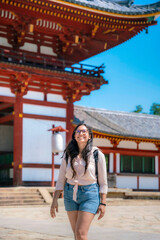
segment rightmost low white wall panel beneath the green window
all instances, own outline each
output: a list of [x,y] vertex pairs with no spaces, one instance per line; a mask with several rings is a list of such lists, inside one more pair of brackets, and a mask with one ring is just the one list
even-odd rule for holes
[[140,189],[159,189],[158,177],[139,177]]

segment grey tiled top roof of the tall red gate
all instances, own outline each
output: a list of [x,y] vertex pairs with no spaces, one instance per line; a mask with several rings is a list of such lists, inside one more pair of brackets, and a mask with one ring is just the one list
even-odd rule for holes
[[160,12],[160,1],[148,5],[134,5],[132,0],[63,0],[106,12],[143,15]]

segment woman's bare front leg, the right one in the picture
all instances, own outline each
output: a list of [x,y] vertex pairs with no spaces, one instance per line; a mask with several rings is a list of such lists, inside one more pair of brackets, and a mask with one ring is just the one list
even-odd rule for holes
[[76,240],[87,240],[88,230],[94,218],[93,213],[78,211],[78,217],[75,226]]

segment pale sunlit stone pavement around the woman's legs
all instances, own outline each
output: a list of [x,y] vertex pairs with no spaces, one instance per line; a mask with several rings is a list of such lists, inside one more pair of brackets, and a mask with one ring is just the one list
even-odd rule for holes
[[[47,206],[0,207],[0,239],[73,240],[63,202],[56,219]],[[108,199],[106,215],[95,217],[89,240],[159,240],[160,201]]]

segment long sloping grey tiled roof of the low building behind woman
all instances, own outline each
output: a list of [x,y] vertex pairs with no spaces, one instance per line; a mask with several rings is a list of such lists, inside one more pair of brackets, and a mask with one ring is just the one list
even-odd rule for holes
[[137,138],[160,139],[160,116],[74,106],[74,123],[95,131]]

